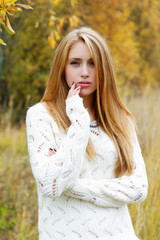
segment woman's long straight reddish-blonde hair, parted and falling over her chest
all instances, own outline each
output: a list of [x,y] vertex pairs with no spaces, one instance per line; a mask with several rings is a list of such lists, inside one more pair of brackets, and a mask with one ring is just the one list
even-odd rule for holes
[[[96,117],[98,124],[113,140],[117,149],[118,159],[114,169],[115,175],[131,174],[133,149],[130,140],[132,128],[129,118],[132,119],[132,115],[118,94],[109,48],[96,31],[82,27],[71,31],[63,38],[55,51],[49,80],[41,102],[45,102],[59,127],[66,131],[70,121],[65,113],[65,100],[69,91],[65,80],[65,65],[71,47],[78,41],[87,44],[94,60],[97,79],[94,99]],[[95,157],[91,141],[88,143],[87,153],[91,158]]]

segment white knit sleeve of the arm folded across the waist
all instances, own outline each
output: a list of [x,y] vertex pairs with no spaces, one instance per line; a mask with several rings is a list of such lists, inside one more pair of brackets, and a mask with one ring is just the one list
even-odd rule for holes
[[148,180],[141,149],[134,130],[132,174],[112,179],[77,179],[66,194],[103,207],[143,201],[147,196]]

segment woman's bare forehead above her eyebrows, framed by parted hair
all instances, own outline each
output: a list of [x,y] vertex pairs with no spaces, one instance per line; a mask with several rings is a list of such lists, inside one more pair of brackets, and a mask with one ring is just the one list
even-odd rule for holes
[[87,44],[83,41],[78,41],[71,47],[68,58],[90,59],[92,56]]

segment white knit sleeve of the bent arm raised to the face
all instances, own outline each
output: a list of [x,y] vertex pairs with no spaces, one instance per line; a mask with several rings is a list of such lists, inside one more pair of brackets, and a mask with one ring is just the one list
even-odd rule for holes
[[[27,112],[26,128],[30,163],[42,194],[59,197],[77,179],[89,139],[90,117],[82,98],[66,100],[66,113],[71,121],[67,134],[57,146],[60,129],[42,104]],[[50,154],[50,149],[55,149]]]

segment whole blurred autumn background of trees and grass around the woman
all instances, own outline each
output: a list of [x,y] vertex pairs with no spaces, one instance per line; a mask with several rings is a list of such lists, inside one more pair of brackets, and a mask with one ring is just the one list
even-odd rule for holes
[[[33,9],[26,7],[9,15],[16,34],[10,35],[4,28],[0,32],[7,44],[0,45],[0,239],[38,239],[26,111],[43,95],[54,50],[62,37],[75,27],[89,26],[110,46],[120,95],[138,126],[149,192],[143,203],[129,206],[134,228],[142,240],[159,240],[160,1],[5,2],[29,4]],[[3,25],[1,19],[2,12]]]

